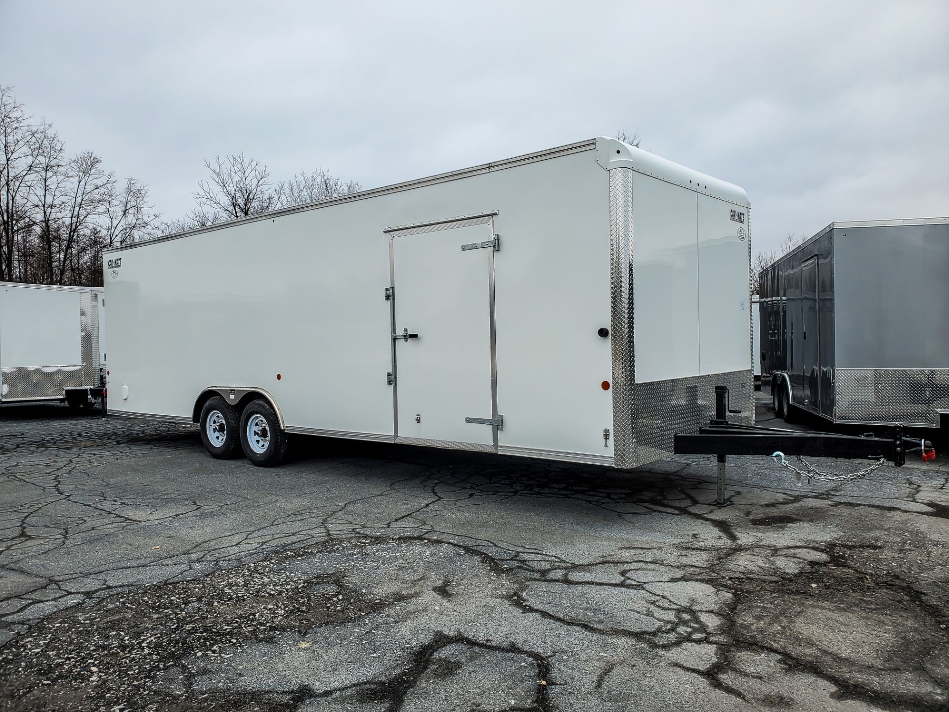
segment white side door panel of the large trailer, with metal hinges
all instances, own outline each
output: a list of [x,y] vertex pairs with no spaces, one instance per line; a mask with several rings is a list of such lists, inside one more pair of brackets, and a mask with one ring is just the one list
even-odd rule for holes
[[[396,236],[393,246],[399,435],[493,443],[488,249],[491,224]],[[419,422],[416,422],[416,417]]]

